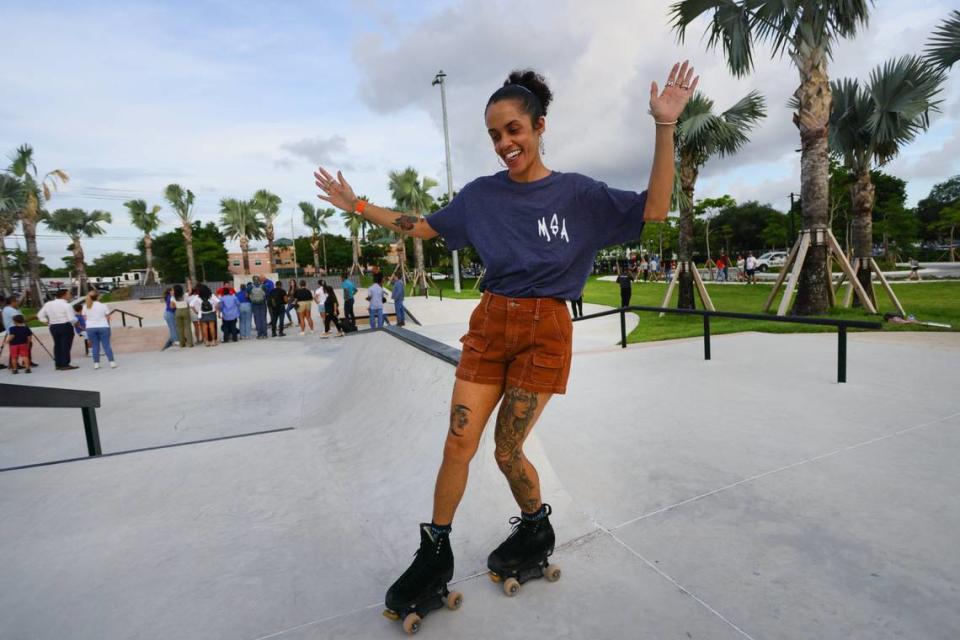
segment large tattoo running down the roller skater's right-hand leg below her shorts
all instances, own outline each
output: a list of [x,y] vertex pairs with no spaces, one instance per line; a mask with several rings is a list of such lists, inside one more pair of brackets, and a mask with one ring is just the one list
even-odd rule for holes
[[510,387],[503,396],[503,404],[497,414],[494,457],[500,470],[510,483],[517,502],[525,511],[540,507],[539,488],[527,473],[523,457],[523,440],[537,412],[537,394],[517,387]]

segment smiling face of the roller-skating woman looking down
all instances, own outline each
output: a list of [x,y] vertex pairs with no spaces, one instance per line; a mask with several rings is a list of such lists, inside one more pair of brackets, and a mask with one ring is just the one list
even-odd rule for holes
[[530,114],[521,109],[519,100],[500,100],[487,107],[486,121],[493,150],[507,165],[511,178],[529,182],[549,173],[540,158],[545,118],[540,117],[534,128]]

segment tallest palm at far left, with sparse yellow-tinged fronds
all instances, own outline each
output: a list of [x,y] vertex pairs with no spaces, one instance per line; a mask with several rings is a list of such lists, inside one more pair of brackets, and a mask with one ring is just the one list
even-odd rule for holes
[[43,304],[43,294],[40,291],[40,255],[37,252],[37,223],[46,215],[44,208],[50,200],[57,184],[66,184],[70,181],[61,169],[48,171],[41,178],[37,173],[37,165],[33,160],[33,147],[28,144],[20,145],[11,157],[8,171],[23,184],[24,201],[20,210],[20,225],[23,227],[23,237],[27,244],[27,271],[30,272],[30,298],[33,304]]

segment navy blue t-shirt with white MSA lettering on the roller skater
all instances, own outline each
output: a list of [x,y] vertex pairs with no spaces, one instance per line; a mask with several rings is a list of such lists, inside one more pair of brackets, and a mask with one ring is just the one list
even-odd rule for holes
[[554,171],[514,182],[506,171],[469,183],[427,217],[450,249],[472,245],[487,289],[511,298],[576,300],[603,247],[635,241],[647,192]]

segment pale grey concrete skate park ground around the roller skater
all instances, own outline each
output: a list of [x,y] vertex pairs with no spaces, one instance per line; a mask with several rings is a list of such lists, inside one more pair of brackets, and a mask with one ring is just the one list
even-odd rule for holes
[[[409,306],[453,344],[473,305]],[[563,577],[487,579],[517,511],[488,429],[452,535],[464,604],[420,636],[960,637],[957,334],[851,335],[838,385],[830,335],[715,336],[705,362],[622,350],[617,324],[575,325],[526,446]],[[294,428],[0,472],[0,637],[402,636],[382,598],[429,518],[450,365],[380,332],[2,379],[100,390],[105,453]],[[0,425],[0,466],[84,453],[76,410]]]

